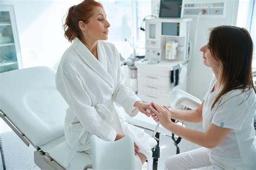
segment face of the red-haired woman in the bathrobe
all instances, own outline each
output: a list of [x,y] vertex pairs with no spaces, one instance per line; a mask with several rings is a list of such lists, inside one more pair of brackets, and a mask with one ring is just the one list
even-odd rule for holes
[[100,6],[93,9],[93,15],[89,19],[89,23],[85,24],[86,38],[91,40],[106,40],[109,34],[110,23],[106,20],[106,13]]

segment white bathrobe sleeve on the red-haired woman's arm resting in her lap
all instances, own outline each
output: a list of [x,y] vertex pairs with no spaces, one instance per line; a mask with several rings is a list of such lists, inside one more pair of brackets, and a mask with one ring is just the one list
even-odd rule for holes
[[[92,107],[91,98],[83,86],[83,79],[71,66],[63,67],[61,79],[56,78],[58,91],[82,124],[83,128],[106,141],[114,141],[117,132]],[[59,81],[59,82],[58,82]]]

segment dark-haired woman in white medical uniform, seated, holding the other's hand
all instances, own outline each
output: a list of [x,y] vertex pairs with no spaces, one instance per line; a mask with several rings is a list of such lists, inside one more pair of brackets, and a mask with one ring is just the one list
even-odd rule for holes
[[[203,146],[167,158],[165,169],[256,169],[251,36],[243,28],[218,26],[200,51],[214,78],[197,110],[174,110],[155,103],[150,107],[154,120],[167,130]],[[181,127],[171,118],[203,123],[204,132]]]

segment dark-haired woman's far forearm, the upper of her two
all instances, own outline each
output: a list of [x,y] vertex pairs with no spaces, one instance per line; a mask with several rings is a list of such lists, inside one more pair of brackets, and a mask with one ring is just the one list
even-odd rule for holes
[[201,123],[203,118],[197,110],[176,110],[170,109],[171,118],[187,123]]

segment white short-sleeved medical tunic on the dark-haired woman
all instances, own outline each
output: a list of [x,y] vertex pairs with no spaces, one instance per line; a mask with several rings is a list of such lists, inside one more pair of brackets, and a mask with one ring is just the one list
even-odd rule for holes
[[232,90],[215,104],[214,99],[220,88],[211,92],[216,82],[212,79],[204,98],[203,128],[207,130],[213,123],[219,127],[230,128],[231,132],[216,147],[209,149],[208,155],[216,169],[256,169],[256,145],[253,126],[255,93],[253,89]]

